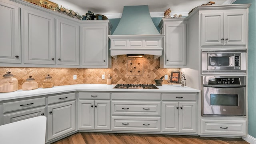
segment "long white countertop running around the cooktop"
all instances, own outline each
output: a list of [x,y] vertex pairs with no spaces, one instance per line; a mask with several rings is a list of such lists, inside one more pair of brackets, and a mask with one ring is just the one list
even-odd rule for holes
[[200,92],[200,90],[182,87],[180,84],[157,86],[159,89],[122,89],[114,88],[115,85],[107,84],[74,84],[66,86],[54,86],[53,88],[38,88],[34,90],[17,90],[14,92],[0,93],[0,101],[12,100],[16,98],[27,98],[32,96],[42,96],[62,92],[74,91],[96,91],[96,92]]

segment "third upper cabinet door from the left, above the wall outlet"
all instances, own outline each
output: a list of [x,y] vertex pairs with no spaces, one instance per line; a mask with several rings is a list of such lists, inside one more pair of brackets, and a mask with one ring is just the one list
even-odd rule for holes
[[79,65],[79,25],[57,19],[57,64]]

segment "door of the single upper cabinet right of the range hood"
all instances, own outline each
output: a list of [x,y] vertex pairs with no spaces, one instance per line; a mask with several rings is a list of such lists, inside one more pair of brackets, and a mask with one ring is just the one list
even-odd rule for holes
[[166,68],[186,65],[186,23],[167,23],[165,37]]

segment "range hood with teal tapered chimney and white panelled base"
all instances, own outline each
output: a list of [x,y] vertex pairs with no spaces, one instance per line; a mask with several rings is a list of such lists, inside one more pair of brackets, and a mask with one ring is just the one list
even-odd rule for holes
[[110,38],[110,55],[162,55],[162,38],[152,22],[148,5],[124,6],[122,17]]

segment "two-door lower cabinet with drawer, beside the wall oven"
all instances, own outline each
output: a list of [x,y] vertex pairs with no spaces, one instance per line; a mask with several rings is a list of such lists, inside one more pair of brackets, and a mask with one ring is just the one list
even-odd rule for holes
[[196,94],[162,96],[162,132],[196,133]]

